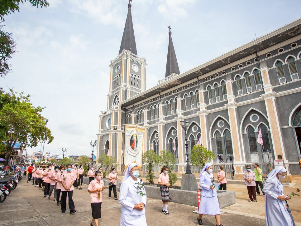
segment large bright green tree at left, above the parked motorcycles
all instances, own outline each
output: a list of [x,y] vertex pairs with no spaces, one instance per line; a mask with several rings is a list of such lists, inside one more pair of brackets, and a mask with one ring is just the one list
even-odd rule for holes
[[6,143],[5,159],[9,159],[17,141],[24,147],[36,147],[40,141],[48,140],[50,144],[53,140],[46,126],[48,120],[41,115],[45,107],[33,106],[29,98],[30,95],[24,96],[23,92],[18,94],[11,89],[8,103],[0,110],[0,125],[4,128],[0,132],[4,134],[0,141]]

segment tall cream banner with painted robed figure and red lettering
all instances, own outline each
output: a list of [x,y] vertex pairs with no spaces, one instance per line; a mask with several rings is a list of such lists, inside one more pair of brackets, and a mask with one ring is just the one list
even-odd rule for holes
[[139,167],[142,165],[144,127],[139,125],[125,125],[125,168],[135,162]]

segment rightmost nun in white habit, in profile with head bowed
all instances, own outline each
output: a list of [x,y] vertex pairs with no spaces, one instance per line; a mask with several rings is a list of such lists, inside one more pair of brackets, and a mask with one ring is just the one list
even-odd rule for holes
[[272,170],[265,181],[263,192],[265,193],[265,222],[267,226],[292,226],[293,221],[286,209],[285,200],[289,197],[283,194],[283,186],[279,178],[284,179],[286,169],[278,166]]

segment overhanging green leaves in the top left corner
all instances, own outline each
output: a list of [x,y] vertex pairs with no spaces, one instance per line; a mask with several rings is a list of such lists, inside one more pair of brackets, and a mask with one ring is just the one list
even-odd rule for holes
[[4,21],[4,15],[20,12],[20,2],[30,2],[34,7],[47,7],[49,3],[46,0],[1,0],[0,1],[0,19]]

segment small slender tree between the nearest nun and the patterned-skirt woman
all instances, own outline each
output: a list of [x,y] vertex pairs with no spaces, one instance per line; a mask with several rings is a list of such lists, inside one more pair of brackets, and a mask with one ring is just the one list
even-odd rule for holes
[[148,150],[143,153],[143,163],[145,164],[146,169],[146,180],[150,185],[154,184],[154,173],[153,167],[160,163],[159,155],[155,154],[153,150]]

